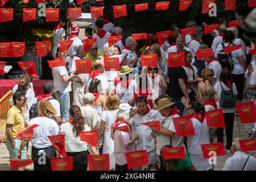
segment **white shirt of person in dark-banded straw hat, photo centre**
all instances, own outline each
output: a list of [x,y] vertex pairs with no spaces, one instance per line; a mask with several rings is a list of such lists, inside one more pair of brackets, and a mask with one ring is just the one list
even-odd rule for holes
[[137,89],[136,80],[131,80],[128,88],[122,86],[121,82],[115,87],[115,94],[120,100],[120,104],[127,103],[130,99],[133,98],[133,91]]

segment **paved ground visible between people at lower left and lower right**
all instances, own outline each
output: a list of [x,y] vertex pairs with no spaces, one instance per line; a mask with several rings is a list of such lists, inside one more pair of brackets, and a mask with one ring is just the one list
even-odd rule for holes
[[[3,136],[5,131],[0,132],[0,136]],[[233,139],[234,138],[242,138],[242,139],[249,139],[247,137],[247,134],[251,133],[251,126],[249,125],[243,125],[240,122],[239,117],[235,117],[235,122],[234,122],[234,131],[233,131]],[[224,135],[225,135],[225,130],[224,130]],[[224,136],[225,140],[225,136]],[[217,138],[214,138],[214,143],[217,142]],[[224,146],[225,146],[224,142]],[[27,152],[27,157],[31,158],[31,142],[30,142],[30,147],[28,148]],[[253,152],[248,152],[248,154],[256,157],[256,151]],[[214,165],[214,170],[222,170],[224,163],[226,159],[228,159],[231,156],[231,154],[226,154],[224,156],[217,157],[217,164]],[[33,165],[28,166],[27,169],[31,170],[33,168]],[[7,151],[6,145],[4,143],[0,143],[0,171],[7,171],[9,170],[9,153]]]

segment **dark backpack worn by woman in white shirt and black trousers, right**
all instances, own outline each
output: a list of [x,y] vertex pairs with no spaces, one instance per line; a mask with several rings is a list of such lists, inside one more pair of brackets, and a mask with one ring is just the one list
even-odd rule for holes
[[220,82],[220,85],[221,85],[220,107],[221,108],[235,107],[236,101],[234,99],[233,85],[230,90],[224,90],[221,82]]

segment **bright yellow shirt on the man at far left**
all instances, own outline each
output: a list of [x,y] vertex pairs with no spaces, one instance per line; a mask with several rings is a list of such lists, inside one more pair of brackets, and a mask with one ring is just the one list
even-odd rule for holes
[[13,125],[11,131],[13,132],[13,138],[15,138],[18,131],[25,127],[22,111],[15,106],[11,107],[11,109],[7,113],[6,123],[9,125]]

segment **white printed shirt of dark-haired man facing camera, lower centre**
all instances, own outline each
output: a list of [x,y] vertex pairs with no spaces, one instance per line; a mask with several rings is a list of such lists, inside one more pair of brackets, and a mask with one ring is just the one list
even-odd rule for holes
[[156,110],[150,110],[149,113],[141,115],[136,114],[130,118],[130,125],[133,134],[139,134],[139,140],[136,141],[137,150],[146,150],[147,152],[155,150],[155,139],[151,137],[150,127],[142,125],[144,122],[163,121],[164,117]]

